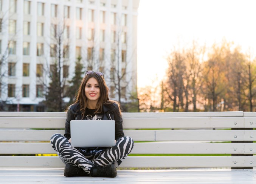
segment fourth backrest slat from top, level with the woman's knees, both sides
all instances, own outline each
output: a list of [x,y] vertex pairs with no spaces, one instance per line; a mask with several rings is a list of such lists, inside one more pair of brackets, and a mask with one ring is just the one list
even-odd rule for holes
[[[50,143],[0,143],[2,154],[56,153]],[[243,143],[135,143],[135,154],[244,154]]]

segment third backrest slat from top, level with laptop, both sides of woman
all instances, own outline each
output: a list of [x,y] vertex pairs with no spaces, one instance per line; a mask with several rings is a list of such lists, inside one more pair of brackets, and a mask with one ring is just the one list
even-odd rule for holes
[[[256,131],[245,134],[255,140]],[[49,141],[54,133],[65,130],[1,130],[0,141]],[[124,130],[135,141],[243,141],[244,130]],[[143,135],[143,136],[142,136]],[[253,138],[250,138],[254,135]]]

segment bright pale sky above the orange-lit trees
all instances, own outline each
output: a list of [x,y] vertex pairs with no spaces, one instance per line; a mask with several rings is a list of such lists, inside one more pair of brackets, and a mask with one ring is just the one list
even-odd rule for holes
[[[256,51],[256,0],[140,0],[138,87],[164,78],[174,46],[234,41]],[[255,54],[255,53],[254,53]]]

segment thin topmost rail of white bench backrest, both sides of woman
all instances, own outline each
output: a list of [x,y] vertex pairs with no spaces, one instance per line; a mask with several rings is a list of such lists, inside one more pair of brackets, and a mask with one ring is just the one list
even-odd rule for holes
[[[124,118],[144,117],[242,117],[242,111],[230,112],[138,112],[122,113]],[[0,112],[0,117],[66,117],[66,112]]]

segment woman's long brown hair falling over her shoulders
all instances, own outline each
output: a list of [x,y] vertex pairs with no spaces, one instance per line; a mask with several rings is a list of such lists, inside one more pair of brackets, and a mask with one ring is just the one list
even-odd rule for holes
[[78,92],[76,93],[75,104],[80,105],[80,110],[82,112],[82,118],[84,118],[85,109],[88,106],[87,97],[85,96],[84,89],[85,89],[85,86],[87,84],[87,81],[92,77],[97,80],[97,82],[99,84],[99,92],[101,94],[100,97],[99,97],[98,103],[96,104],[96,112],[95,113],[101,113],[102,112],[103,104],[116,103],[118,108],[119,108],[119,112],[121,114],[120,104],[117,101],[109,100],[109,87],[107,87],[107,84],[106,84],[104,78],[102,78],[101,76],[94,73],[94,74],[86,75],[82,79],[81,84],[80,84],[79,89],[78,89]]

